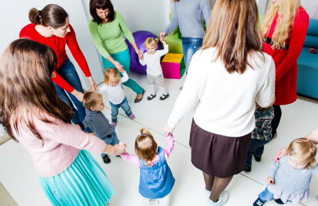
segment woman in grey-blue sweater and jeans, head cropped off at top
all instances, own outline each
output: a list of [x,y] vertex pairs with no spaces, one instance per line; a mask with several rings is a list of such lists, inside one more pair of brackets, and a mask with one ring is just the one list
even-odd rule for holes
[[160,33],[160,38],[171,34],[179,25],[182,34],[182,49],[185,70],[188,72],[192,55],[202,46],[205,31],[202,17],[208,28],[211,7],[209,0],[173,0],[171,21]]

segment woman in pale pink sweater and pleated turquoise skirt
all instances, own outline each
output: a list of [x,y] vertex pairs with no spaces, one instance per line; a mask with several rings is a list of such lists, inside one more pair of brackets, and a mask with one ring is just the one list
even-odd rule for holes
[[73,112],[51,80],[56,64],[55,52],[32,40],[18,39],[6,48],[0,59],[0,124],[31,154],[52,205],[108,204],[115,191],[88,151],[119,155],[124,146],[106,145],[70,124]]

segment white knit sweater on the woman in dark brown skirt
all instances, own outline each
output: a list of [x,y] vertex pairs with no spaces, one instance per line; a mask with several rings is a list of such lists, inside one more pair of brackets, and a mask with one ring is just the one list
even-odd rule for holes
[[175,127],[194,107],[195,123],[205,131],[241,137],[255,128],[255,101],[268,107],[274,100],[275,64],[271,56],[255,53],[249,58],[253,69],[230,74],[221,60],[212,62],[215,48],[197,51],[187,78],[168,119]]

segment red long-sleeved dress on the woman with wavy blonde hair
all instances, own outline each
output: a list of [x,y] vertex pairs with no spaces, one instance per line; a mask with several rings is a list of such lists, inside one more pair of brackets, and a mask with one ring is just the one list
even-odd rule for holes
[[[272,38],[275,31],[277,18],[278,14],[276,14],[267,33],[267,37],[269,38]],[[289,49],[272,49],[270,44],[266,42],[263,43],[263,51],[272,56],[276,67],[276,100],[274,105],[290,104],[297,99],[297,59],[303,49],[308,26],[308,13],[300,6],[295,16],[290,37],[286,40],[286,44],[289,44]]]

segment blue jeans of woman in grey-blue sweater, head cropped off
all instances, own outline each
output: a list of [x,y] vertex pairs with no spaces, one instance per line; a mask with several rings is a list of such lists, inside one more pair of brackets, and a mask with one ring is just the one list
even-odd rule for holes
[[182,37],[185,71],[188,72],[192,56],[202,46],[202,38]]

